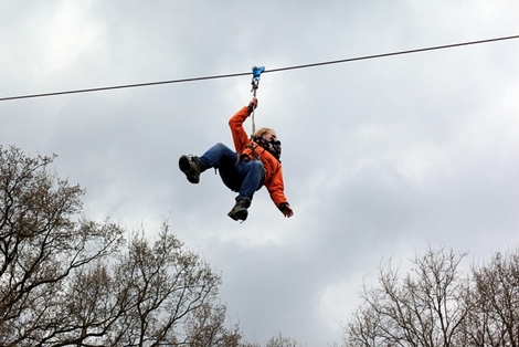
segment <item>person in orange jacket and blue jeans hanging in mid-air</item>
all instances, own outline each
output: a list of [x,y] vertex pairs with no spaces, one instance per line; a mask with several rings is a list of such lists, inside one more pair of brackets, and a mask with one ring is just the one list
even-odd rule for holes
[[[243,123],[257,107],[254,96],[248,106],[242,107],[229,120],[235,151],[219,143],[201,157],[183,155],[179,159],[180,170],[191,183],[200,181],[200,174],[218,168],[223,183],[237,192],[236,202],[227,213],[233,220],[245,221],[254,193],[266,187],[271,199],[282,213],[289,218],[294,211],[284,193],[283,169],[279,160],[282,143],[276,132],[261,128],[248,138]],[[254,130],[254,128],[253,128]]]

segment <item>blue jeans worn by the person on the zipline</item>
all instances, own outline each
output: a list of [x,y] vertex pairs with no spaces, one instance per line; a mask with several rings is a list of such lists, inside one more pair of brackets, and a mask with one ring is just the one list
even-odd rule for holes
[[234,150],[223,144],[216,144],[200,158],[202,172],[218,168],[223,183],[232,191],[239,192],[236,200],[248,198],[263,187],[265,171],[262,160],[240,159]]

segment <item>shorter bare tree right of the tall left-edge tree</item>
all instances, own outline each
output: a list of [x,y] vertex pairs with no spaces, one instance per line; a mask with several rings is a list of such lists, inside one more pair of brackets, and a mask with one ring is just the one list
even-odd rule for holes
[[153,245],[144,231],[134,233],[112,266],[97,263],[75,274],[64,295],[70,323],[45,345],[242,346],[239,327],[224,326],[220,283],[166,223]]

